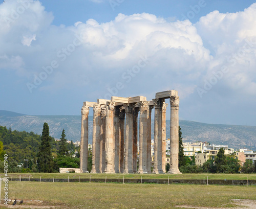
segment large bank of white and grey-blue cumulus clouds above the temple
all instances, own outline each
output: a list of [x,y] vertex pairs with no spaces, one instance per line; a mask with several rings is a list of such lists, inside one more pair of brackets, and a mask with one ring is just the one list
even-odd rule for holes
[[22,66],[33,92],[75,88],[91,99],[138,92],[151,99],[176,88],[184,100],[223,89],[256,96],[256,4],[210,12],[194,25],[148,13],[67,27],[52,20],[39,1],[0,5],[0,68]]

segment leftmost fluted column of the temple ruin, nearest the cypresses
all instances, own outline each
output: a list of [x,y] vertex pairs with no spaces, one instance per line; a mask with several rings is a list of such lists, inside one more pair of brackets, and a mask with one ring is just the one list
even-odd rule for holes
[[81,147],[80,147],[80,170],[82,173],[88,169],[88,114],[89,107],[83,106],[81,109]]

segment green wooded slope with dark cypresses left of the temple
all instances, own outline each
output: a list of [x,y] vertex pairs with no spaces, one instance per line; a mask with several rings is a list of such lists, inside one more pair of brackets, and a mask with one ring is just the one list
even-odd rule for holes
[[58,172],[59,168],[79,168],[79,151],[75,154],[73,142],[67,143],[65,130],[60,141],[49,134],[44,123],[42,134],[12,131],[0,126],[0,172],[3,172],[4,154],[8,155],[8,172]]

